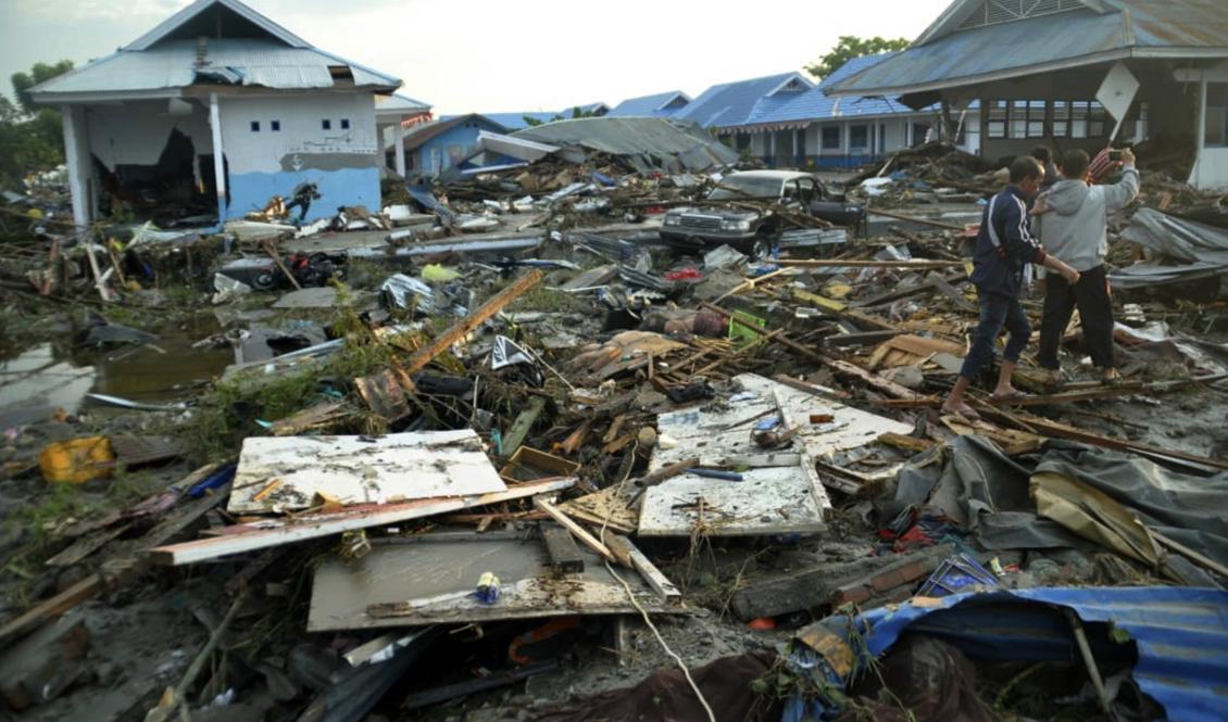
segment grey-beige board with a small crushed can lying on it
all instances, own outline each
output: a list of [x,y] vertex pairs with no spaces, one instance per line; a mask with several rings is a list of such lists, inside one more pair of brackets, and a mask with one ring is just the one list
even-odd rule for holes
[[[307,631],[637,614],[602,559],[585,548],[580,554],[585,571],[559,577],[540,539],[475,534],[472,540],[377,544],[360,560],[330,559],[316,571]],[[469,594],[488,571],[500,578],[494,604]],[[619,570],[619,576],[648,611],[678,611],[636,572]],[[378,611],[388,607],[398,609]]]

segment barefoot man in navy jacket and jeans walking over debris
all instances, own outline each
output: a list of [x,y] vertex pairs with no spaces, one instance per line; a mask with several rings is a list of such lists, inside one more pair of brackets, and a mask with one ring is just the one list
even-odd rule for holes
[[990,199],[981,216],[970,276],[980,297],[981,317],[955,387],[942,404],[942,410],[948,414],[979,417],[964,402],[964,393],[985,365],[993,360],[993,343],[1003,327],[1011,332],[1011,339],[1002,354],[993,399],[1009,400],[1024,395],[1011,384],[1014,365],[1032,335],[1028,314],[1019,306],[1024,266],[1040,264],[1060,273],[1071,285],[1078,282],[1078,271],[1046,254],[1032,235],[1028,199],[1036,194],[1044,178],[1045,168],[1040,161],[1030,156],[1016,158],[1011,163],[1011,184]]

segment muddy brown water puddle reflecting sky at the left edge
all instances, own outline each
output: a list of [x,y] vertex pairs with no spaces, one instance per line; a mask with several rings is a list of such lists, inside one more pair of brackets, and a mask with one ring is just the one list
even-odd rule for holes
[[190,399],[199,386],[235,361],[231,349],[193,349],[217,333],[212,314],[149,329],[151,344],[82,347],[71,339],[39,343],[0,357],[0,429],[76,414],[87,393],[142,404]]

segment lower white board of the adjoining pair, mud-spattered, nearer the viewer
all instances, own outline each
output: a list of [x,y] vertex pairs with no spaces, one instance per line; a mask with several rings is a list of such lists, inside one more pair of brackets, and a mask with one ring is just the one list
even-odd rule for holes
[[743,472],[742,481],[683,474],[643,494],[640,537],[747,537],[822,532],[823,510],[797,467]]

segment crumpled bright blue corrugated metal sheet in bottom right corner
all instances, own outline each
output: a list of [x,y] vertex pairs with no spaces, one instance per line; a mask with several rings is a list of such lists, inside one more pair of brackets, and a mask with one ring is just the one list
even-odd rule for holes
[[[1055,641],[1070,645],[1068,627],[1051,625],[1052,616],[1028,614],[1027,608],[1019,608],[1019,614],[1001,609],[984,614],[986,605],[1018,605],[1020,600],[1070,608],[1084,623],[1109,623],[1129,634],[1138,651],[1132,677],[1140,689],[1164,706],[1169,720],[1224,720],[1228,710],[1228,592],[1221,589],[1039,587],[957,594],[942,599],[938,607],[909,602],[874,609],[857,616],[855,624],[863,630],[867,650],[874,657],[890,648],[905,629],[958,634],[963,642],[977,643],[984,653],[998,658],[1035,658],[1029,653]],[[931,618],[936,613],[941,615]],[[839,624],[842,619],[846,618],[829,618],[823,624]],[[935,624],[943,619],[941,625]]]

